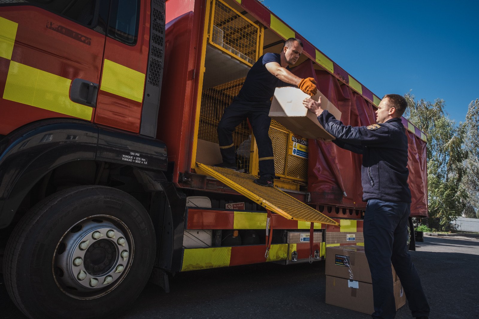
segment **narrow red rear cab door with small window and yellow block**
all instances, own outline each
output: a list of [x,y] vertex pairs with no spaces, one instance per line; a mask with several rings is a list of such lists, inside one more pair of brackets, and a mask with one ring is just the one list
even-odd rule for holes
[[148,66],[148,2],[111,1],[95,123],[140,131]]

